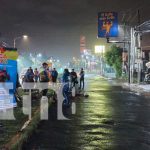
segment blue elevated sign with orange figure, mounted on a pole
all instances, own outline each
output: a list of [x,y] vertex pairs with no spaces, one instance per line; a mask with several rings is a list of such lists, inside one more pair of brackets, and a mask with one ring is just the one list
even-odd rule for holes
[[98,37],[118,36],[118,13],[100,12],[98,13]]

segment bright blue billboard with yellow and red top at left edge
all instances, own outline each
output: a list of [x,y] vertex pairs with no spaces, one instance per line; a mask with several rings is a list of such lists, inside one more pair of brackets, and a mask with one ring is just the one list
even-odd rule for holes
[[[12,101],[9,104],[7,102],[6,104],[7,108],[10,105],[16,105],[14,93],[16,91],[17,85],[17,58],[17,49],[0,48],[0,97],[2,98],[4,97],[4,95],[8,96],[9,94],[12,95]],[[7,87],[4,83],[13,83],[13,86],[12,88],[10,88],[11,90],[9,90],[9,93],[6,92],[8,91],[9,87]],[[2,103],[4,103],[2,102],[3,100],[5,101],[6,98],[0,99],[0,108],[6,108],[5,106],[1,105]]]

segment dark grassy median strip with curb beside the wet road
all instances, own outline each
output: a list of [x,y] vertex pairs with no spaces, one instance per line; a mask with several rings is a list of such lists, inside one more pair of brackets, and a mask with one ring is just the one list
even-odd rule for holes
[[[19,92],[20,93],[20,92]],[[22,95],[24,94],[21,91]],[[49,90],[49,98],[54,94],[53,90]],[[12,150],[21,150],[24,142],[32,135],[40,122],[40,100],[32,101],[32,120],[25,130],[20,132],[24,123],[28,120],[28,116],[23,114],[22,107],[14,108],[14,116],[16,120],[0,120],[0,149],[8,148]]]

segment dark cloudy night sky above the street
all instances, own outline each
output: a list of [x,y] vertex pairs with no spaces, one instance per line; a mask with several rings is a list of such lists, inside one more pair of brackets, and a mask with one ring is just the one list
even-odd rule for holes
[[150,19],[149,0],[1,0],[1,40],[13,46],[13,38],[22,34],[29,40],[17,41],[19,49],[46,53],[67,61],[79,56],[79,38],[85,35],[87,48],[93,49],[97,39],[97,13],[117,11],[119,23],[137,24]]

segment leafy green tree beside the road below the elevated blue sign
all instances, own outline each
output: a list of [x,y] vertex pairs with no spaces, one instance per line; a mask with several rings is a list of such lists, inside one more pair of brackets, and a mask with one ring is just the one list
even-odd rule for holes
[[112,45],[110,50],[105,53],[105,60],[108,65],[116,71],[116,76],[122,75],[122,48]]

